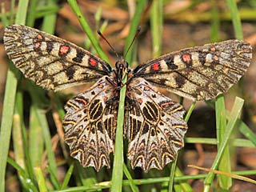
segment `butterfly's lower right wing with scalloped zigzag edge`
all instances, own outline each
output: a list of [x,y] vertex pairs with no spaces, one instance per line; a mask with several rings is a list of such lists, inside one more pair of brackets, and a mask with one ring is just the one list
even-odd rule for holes
[[133,168],[140,166],[146,172],[162,170],[174,160],[187,130],[183,107],[155,90],[143,78],[135,78],[127,88],[128,158]]

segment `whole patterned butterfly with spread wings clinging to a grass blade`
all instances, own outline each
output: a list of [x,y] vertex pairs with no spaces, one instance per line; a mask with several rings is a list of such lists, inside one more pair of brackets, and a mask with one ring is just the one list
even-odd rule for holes
[[62,125],[70,155],[97,171],[110,167],[125,75],[124,129],[131,167],[162,170],[184,146],[188,126],[183,107],[157,87],[193,101],[215,98],[238,82],[252,58],[249,43],[228,40],[164,54],[134,69],[119,58],[112,68],[71,42],[19,25],[6,27],[4,45],[22,74],[46,90],[95,81],[66,103]]

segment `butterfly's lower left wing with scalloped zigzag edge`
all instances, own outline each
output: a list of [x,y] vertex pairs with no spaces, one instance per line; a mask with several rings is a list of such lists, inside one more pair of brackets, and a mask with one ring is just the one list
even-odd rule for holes
[[97,171],[102,166],[110,168],[110,153],[114,151],[118,103],[107,102],[113,93],[104,76],[65,106],[63,128],[70,155],[82,166],[94,166]]

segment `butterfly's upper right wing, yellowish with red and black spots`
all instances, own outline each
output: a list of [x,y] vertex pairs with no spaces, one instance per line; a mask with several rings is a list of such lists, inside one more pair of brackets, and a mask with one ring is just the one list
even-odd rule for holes
[[249,43],[228,40],[154,58],[134,69],[133,76],[192,100],[210,99],[237,83],[251,58]]

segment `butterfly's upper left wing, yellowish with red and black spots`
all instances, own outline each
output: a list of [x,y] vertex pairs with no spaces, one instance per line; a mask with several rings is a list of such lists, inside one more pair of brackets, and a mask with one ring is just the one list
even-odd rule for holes
[[94,54],[28,26],[7,26],[3,39],[14,65],[47,90],[98,80],[111,72],[111,67]]

